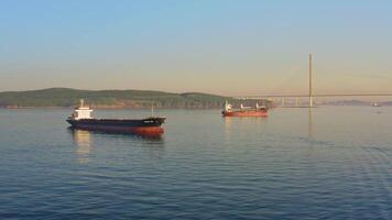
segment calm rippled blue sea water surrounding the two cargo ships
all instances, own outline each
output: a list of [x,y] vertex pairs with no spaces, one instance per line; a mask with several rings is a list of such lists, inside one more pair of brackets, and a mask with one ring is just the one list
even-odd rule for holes
[[69,113],[0,110],[0,219],[392,219],[392,108],[159,110],[161,140]]

